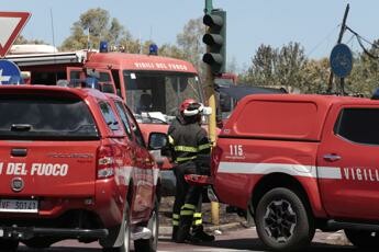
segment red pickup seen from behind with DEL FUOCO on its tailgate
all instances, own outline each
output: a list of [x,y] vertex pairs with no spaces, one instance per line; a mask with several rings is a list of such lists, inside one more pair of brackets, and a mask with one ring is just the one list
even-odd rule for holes
[[[157,250],[159,170],[122,99],[2,85],[0,118],[1,249],[78,239]],[[151,148],[161,135],[151,134]]]

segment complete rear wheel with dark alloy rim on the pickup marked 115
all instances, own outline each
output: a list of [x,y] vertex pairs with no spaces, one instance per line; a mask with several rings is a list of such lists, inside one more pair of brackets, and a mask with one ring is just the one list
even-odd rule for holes
[[255,222],[260,240],[275,251],[301,250],[310,244],[315,231],[300,197],[285,187],[261,197]]

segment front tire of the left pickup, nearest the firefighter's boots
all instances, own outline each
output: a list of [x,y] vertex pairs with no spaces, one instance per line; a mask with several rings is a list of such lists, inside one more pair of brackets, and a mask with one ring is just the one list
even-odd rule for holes
[[154,209],[147,224],[147,228],[152,230],[151,239],[140,239],[134,241],[135,252],[156,252],[158,248],[159,231],[159,202],[156,198]]

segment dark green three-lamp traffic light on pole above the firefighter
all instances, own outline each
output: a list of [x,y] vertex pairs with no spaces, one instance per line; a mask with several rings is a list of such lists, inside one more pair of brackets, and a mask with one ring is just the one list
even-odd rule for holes
[[209,32],[202,37],[209,46],[202,60],[211,66],[213,75],[225,72],[226,62],[226,11],[212,10],[205,14],[203,23],[209,26]]

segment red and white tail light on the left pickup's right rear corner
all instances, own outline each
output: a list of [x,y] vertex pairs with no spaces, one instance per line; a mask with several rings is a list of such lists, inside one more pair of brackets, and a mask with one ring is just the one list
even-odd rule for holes
[[114,175],[114,151],[111,146],[101,146],[98,149],[97,177],[108,179]]

